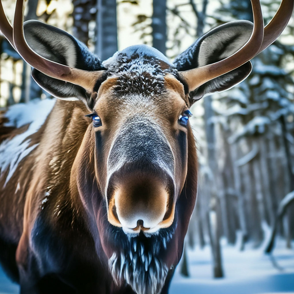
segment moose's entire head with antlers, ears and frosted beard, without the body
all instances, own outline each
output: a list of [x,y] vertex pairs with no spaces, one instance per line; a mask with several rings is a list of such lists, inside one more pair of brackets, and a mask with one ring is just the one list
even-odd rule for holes
[[35,81],[84,114],[88,126],[71,167],[71,193],[113,278],[137,293],[159,293],[183,251],[197,191],[191,105],[243,81],[250,59],[278,38],[293,11],[293,0],[283,0],[264,28],[260,2],[251,2],[254,24],[218,26],[173,63],[138,45],[101,64],[66,32],[23,24],[23,0],[16,1],[13,27],[0,6],[0,29],[34,68]]

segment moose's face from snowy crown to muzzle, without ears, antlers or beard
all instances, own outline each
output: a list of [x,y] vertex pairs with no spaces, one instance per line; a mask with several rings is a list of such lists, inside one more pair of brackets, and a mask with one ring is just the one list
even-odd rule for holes
[[104,62],[114,72],[94,105],[96,176],[108,221],[127,234],[170,226],[187,174],[189,101],[173,66],[152,55],[133,46]]

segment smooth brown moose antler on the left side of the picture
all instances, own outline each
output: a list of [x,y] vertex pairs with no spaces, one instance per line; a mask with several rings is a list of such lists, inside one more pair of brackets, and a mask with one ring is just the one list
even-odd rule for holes
[[26,43],[24,37],[24,1],[25,0],[16,0],[13,28],[5,16],[0,1],[0,29],[6,39],[8,39],[10,44],[30,66],[51,78],[57,78],[79,85],[87,92],[91,93],[97,79],[101,77],[103,71],[84,71],[56,63],[40,56]]

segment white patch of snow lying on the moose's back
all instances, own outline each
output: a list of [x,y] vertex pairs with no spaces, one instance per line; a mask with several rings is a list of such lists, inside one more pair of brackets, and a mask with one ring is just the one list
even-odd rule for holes
[[[8,122],[4,123],[6,127],[20,128],[29,124],[28,129],[13,137],[12,139],[4,140],[0,145],[0,171],[1,174],[9,169],[5,179],[5,184],[16,171],[18,164],[27,156],[38,144],[29,147],[31,139],[27,139],[32,134],[36,133],[45,122],[48,114],[52,110],[55,99],[34,99],[29,103],[19,103],[11,106],[4,116]],[[1,177],[0,174],[0,177]]]

